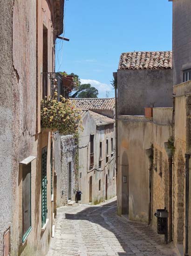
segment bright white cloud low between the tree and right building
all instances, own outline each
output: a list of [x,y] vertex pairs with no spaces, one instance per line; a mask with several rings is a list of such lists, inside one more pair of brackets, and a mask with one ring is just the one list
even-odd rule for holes
[[109,91],[112,97],[114,96],[114,89],[109,84],[104,84],[92,79],[80,79],[80,81],[82,84],[91,84],[93,87],[95,87],[99,92],[99,98],[105,98],[106,91]]

